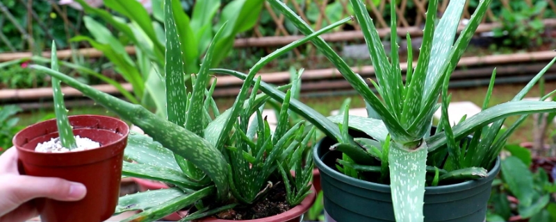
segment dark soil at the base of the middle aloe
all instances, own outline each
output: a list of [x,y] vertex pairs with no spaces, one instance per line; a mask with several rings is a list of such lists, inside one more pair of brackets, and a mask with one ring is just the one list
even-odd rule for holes
[[265,198],[257,201],[249,207],[236,207],[231,210],[220,212],[214,216],[225,220],[252,220],[284,213],[290,210],[286,202],[286,187],[283,182],[275,183],[268,191]]

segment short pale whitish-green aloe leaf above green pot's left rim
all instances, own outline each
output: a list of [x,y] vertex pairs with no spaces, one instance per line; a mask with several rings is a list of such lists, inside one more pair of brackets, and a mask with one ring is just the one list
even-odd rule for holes
[[[342,123],[344,115],[336,115],[332,117],[327,117],[333,123]],[[388,130],[384,126],[384,122],[379,119],[371,119],[359,116],[350,116],[349,119],[350,128],[354,128],[363,133],[366,133],[373,139],[377,139],[379,142],[384,142],[386,135],[388,135]]]

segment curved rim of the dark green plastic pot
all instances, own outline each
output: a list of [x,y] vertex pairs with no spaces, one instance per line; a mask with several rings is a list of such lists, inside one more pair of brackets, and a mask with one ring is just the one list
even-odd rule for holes
[[[391,188],[390,185],[383,185],[383,184],[379,184],[377,182],[369,182],[366,180],[359,180],[359,179],[355,179],[355,178],[351,178],[349,176],[346,176],[343,173],[340,173],[338,171],[335,171],[334,169],[328,167],[324,162],[322,162],[322,157],[324,157],[325,155],[327,155],[327,153],[329,153],[330,151],[325,151],[323,152],[324,154],[322,154],[322,156],[319,156],[319,150],[321,148],[321,143],[327,139],[328,137],[324,137],[322,139],[320,139],[320,141],[316,144],[316,147],[313,148],[313,160],[315,160],[315,165],[318,167],[319,171],[321,171],[321,173],[326,173],[328,176],[336,179],[336,180],[340,180],[342,182],[345,182],[347,184],[353,185],[355,187],[361,187],[363,189],[373,189],[375,191],[382,191],[384,193],[390,193],[391,192]],[[440,186],[436,186],[436,187],[425,187],[425,194],[445,194],[445,193],[453,193],[453,192],[457,192],[457,191],[463,191],[466,189],[473,189],[474,187],[477,187],[479,185],[482,185],[486,182],[488,182],[489,180],[493,180],[494,177],[496,177],[496,175],[498,174],[498,172],[500,171],[500,157],[496,157],[496,162],[494,164],[494,167],[487,173],[488,176],[486,176],[486,178],[480,178],[478,180],[468,180],[465,182],[459,182],[457,184],[453,184],[453,185],[440,185]]]

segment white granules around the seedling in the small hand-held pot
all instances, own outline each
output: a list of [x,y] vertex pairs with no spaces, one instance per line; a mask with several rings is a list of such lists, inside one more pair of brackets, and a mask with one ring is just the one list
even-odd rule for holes
[[75,143],[77,145],[76,148],[68,149],[62,146],[62,141],[60,141],[59,137],[52,138],[50,141],[39,143],[37,147],[35,147],[35,152],[40,153],[67,153],[67,152],[75,152],[75,151],[86,151],[93,148],[99,148],[100,144],[98,142],[94,142],[89,138],[81,138],[79,135],[75,136]]

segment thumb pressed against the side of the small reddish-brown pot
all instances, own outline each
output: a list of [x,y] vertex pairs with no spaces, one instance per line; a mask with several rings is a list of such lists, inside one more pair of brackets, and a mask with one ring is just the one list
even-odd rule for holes
[[11,182],[11,185],[13,201],[19,204],[40,197],[61,201],[75,201],[81,200],[87,194],[87,189],[81,183],[70,182],[60,178],[17,176],[15,181]]

